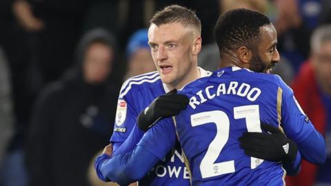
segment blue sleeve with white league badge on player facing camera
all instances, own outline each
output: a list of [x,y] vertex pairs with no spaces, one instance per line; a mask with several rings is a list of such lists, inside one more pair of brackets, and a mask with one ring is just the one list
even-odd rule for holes
[[[123,84],[123,86],[125,83]],[[125,90],[122,86],[121,92]],[[139,114],[137,106],[134,105],[134,90],[130,90],[125,96],[119,95],[117,101],[117,112],[114,121],[114,132],[110,138],[110,143],[114,144],[114,150],[130,135],[136,118]]]

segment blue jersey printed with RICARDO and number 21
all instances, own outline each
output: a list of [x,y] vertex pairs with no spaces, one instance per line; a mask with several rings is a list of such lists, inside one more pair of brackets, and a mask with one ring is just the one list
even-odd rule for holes
[[296,143],[314,131],[290,87],[276,75],[222,68],[179,93],[190,99],[186,110],[173,121],[159,121],[138,145],[162,156],[174,143],[176,125],[193,185],[284,185],[281,164],[245,155],[238,138],[262,132],[260,121],[282,127]]

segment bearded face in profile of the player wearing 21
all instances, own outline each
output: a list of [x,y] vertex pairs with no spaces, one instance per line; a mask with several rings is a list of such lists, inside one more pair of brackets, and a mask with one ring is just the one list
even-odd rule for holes
[[269,74],[274,64],[280,60],[277,50],[277,32],[272,24],[260,28],[257,50],[252,52],[250,70]]

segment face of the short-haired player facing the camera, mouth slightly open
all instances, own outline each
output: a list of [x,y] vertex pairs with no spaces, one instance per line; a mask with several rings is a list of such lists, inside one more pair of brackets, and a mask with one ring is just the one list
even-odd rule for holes
[[159,26],[152,23],[148,44],[163,83],[170,88],[181,88],[196,79],[201,37],[194,28],[177,22]]

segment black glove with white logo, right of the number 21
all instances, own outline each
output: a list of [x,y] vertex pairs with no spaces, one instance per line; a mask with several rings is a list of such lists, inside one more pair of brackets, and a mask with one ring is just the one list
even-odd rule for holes
[[269,134],[245,132],[239,138],[240,147],[244,149],[245,154],[267,161],[292,163],[297,156],[297,144],[287,138],[277,127],[261,123],[261,128]]

